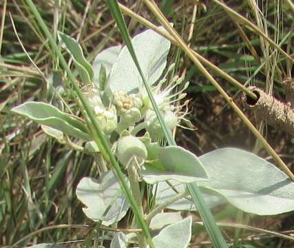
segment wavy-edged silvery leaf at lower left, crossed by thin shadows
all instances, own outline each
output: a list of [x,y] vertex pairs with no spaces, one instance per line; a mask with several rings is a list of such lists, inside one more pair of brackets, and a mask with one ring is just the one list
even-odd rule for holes
[[129,203],[112,171],[106,172],[98,180],[82,178],[76,188],[76,196],[87,206],[83,208],[85,215],[94,221],[103,220],[103,225],[118,222],[129,209]]

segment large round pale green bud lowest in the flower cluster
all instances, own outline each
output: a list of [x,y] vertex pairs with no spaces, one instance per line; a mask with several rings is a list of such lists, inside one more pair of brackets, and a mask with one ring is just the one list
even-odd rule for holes
[[147,159],[147,148],[139,138],[135,136],[123,136],[118,140],[116,157],[124,166],[127,166],[132,158],[136,158],[141,165]]

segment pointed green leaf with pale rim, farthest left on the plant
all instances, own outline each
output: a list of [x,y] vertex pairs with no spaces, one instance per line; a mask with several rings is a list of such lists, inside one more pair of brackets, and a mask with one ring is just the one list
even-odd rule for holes
[[82,121],[79,121],[70,114],[61,112],[58,108],[48,103],[28,101],[14,107],[11,111],[30,118],[37,123],[53,127],[64,134],[81,138],[84,141],[91,140],[87,134],[87,127],[85,127]]

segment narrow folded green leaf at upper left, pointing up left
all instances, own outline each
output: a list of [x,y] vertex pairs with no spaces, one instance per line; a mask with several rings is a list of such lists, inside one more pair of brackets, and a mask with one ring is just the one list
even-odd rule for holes
[[68,52],[72,55],[78,74],[84,83],[91,83],[94,78],[94,71],[92,65],[85,59],[81,45],[72,37],[69,37],[62,32],[59,32],[59,37],[65,44]]

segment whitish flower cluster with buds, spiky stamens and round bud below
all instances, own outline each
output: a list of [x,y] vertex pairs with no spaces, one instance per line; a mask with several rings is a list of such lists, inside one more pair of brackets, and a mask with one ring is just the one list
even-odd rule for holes
[[[184,79],[178,76],[168,80],[169,72],[173,69],[174,65],[171,65],[164,78],[156,86],[151,87],[160,113],[171,131],[180,126],[180,121],[187,121],[185,115],[189,103],[189,101],[180,103],[186,96],[185,90],[189,82],[183,83]],[[113,132],[120,136],[114,143],[118,161],[127,166],[134,158],[139,165],[143,164],[147,159],[147,149],[145,143],[137,137],[138,134],[145,134],[153,142],[164,138],[156,112],[145,89],[140,87],[136,94],[114,92],[110,97],[107,95],[107,101],[101,100],[105,96],[101,96],[99,90],[95,88],[92,90],[87,88],[84,92],[94,108],[101,130],[109,136]]]

